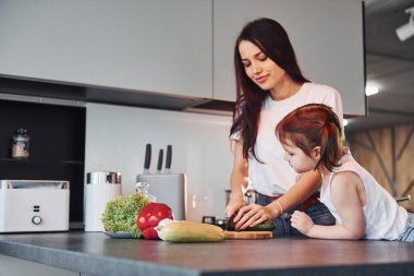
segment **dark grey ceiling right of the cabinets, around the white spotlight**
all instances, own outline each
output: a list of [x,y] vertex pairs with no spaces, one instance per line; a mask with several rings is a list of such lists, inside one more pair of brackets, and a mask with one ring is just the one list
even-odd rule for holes
[[368,116],[349,120],[349,132],[414,122],[414,36],[400,41],[414,0],[365,2],[366,82],[380,93],[367,98]]

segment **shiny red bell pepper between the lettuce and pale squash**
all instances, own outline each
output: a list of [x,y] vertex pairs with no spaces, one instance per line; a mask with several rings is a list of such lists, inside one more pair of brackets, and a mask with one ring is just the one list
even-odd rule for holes
[[159,240],[155,228],[165,218],[173,219],[172,209],[167,204],[151,202],[139,212],[136,226],[143,232],[145,239]]

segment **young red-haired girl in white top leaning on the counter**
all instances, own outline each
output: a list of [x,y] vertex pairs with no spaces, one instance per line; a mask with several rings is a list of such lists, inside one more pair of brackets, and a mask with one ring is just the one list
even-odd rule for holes
[[320,202],[337,219],[334,226],[315,225],[296,211],[292,227],[319,239],[414,241],[414,215],[399,206],[343,146],[341,124],[331,108],[300,107],[279,122],[276,135],[297,173],[315,170],[322,176]]

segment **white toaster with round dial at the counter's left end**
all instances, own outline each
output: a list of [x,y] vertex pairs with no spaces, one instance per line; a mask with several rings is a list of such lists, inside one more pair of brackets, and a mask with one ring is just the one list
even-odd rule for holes
[[69,181],[0,180],[0,232],[69,230]]

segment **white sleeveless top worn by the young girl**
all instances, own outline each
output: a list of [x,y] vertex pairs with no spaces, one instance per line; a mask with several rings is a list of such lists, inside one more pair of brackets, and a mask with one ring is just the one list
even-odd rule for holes
[[397,201],[374,179],[374,177],[355,161],[351,154],[341,158],[341,166],[333,169],[328,183],[320,189],[322,202],[337,219],[342,224],[337,208],[332,204],[330,187],[332,176],[340,171],[353,171],[360,176],[366,191],[366,205],[363,207],[365,217],[365,239],[395,240],[405,230],[407,212],[397,204]]

